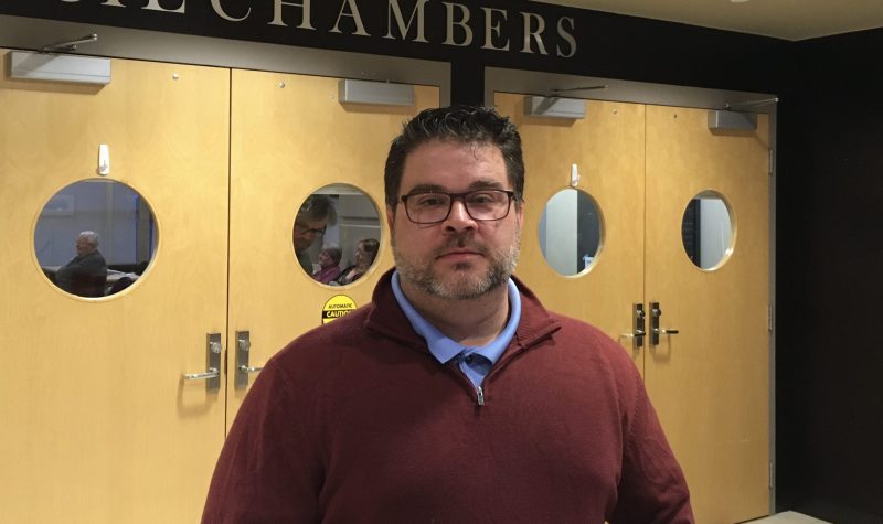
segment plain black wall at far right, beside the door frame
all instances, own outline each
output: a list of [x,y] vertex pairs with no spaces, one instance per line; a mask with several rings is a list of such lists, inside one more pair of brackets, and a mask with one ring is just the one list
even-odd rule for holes
[[883,523],[883,30],[791,44],[779,105],[778,496]]

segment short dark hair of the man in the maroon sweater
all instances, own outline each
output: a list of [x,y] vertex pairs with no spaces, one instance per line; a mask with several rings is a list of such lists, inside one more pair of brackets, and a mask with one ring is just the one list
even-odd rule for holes
[[492,107],[450,106],[424,109],[402,128],[393,139],[383,173],[386,204],[395,208],[405,160],[417,147],[433,141],[493,145],[503,156],[506,172],[514,191],[515,202],[524,195],[524,159],[521,154],[521,136],[509,118],[500,116]]

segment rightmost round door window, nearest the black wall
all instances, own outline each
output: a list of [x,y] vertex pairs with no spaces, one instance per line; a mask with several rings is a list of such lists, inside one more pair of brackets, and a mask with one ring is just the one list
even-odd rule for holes
[[696,267],[715,269],[733,252],[733,213],[716,191],[703,191],[687,204],[681,238],[687,257]]

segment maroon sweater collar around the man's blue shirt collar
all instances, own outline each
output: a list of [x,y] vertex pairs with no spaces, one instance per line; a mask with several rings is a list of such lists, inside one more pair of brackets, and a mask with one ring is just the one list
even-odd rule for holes
[[[365,318],[365,328],[379,334],[395,339],[406,345],[428,352],[426,341],[414,331],[398,301],[393,295],[390,269],[377,281]],[[551,335],[561,328],[560,322],[540,302],[540,299],[517,277],[512,277],[521,295],[521,320],[510,347],[526,349]]]

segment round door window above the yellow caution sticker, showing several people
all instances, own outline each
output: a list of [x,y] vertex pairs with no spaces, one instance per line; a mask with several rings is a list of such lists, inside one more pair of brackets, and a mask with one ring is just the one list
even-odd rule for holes
[[297,261],[310,278],[344,286],[374,266],[380,235],[374,201],[352,185],[331,184],[300,204],[291,237]]

